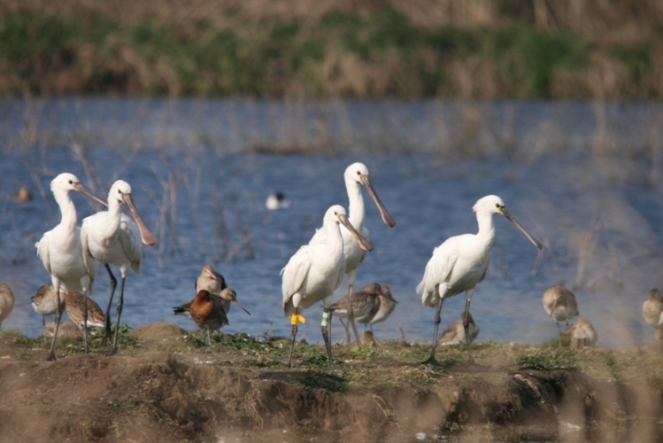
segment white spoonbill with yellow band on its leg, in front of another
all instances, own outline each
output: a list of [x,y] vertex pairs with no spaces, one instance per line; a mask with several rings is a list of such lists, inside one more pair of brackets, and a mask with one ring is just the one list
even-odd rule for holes
[[334,291],[343,281],[345,270],[345,259],[343,257],[343,236],[340,224],[343,224],[353,236],[357,238],[359,245],[365,251],[371,251],[371,246],[366,238],[358,233],[348,221],[343,206],[331,206],[322,219],[325,242],[311,242],[303,245],[295,253],[285,268],[281,269],[283,276],[281,291],[283,293],[283,311],[285,316],[290,316],[292,324],[292,344],[288,358],[288,367],[292,363],[292,351],[295,347],[297,337],[297,323],[304,322],[302,310],[310,307],[319,300],[324,304],[322,313],[322,338],[325,339],[329,364],[332,364],[331,342],[329,341],[328,325],[331,323],[331,305]]

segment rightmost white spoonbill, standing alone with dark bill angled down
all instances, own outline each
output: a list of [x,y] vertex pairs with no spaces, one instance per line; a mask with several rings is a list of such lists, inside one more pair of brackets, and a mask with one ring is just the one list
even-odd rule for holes
[[440,312],[444,299],[465,291],[465,313],[463,326],[465,328],[468,361],[474,361],[470,345],[468,326],[470,302],[474,295],[474,287],[482,282],[490,261],[490,246],[495,240],[495,225],[493,214],[504,215],[509,221],[520,229],[538,249],[542,245],[520,225],[511,214],[506,211],[502,198],[494,195],[480,198],[473,207],[479,231],[476,234],[463,234],[447,238],[442,245],[433,250],[433,256],[428,260],[421,283],[417,285],[417,293],[421,294],[421,303],[424,307],[437,307],[435,330],[433,334],[433,347],[426,362],[436,362],[437,330],[440,326]]

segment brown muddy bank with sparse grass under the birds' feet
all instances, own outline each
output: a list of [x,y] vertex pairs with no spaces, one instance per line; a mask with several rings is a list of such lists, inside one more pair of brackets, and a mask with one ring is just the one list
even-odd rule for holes
[[[515,354],[536,354],[526,346],[516,351],[479,346],[474,366],[462,362],[462,349],[445,350],[439,354],[443,364],[430,367],[413,359],[428,346],[382,344],[389,349],[358,355],[336,345],[337,361],[328,368],[303,361],[317,346],[302,344],[296,367],[287,369],[280,360],[284,339],[239,337],[216,341],[208,350],[195,335],[168,323],[133,334],[134,345],[118,355],[80,354],[77,342],[66,340],[58,361],[47,362],[42,341],[5,332],[0,440],[403,441],[419,434],[462,441],[651,441],[663,436],[658,378],[641,377],[646,383],[639,383],[600,376],[595,369],[602,359],[613,361],[608,366],[622,364],[605,351],[582,357],[595,366],[589,375],[575,368],[542,368],[545,359],[514,364]],[[246,346],[238,345],[243,340]]]

